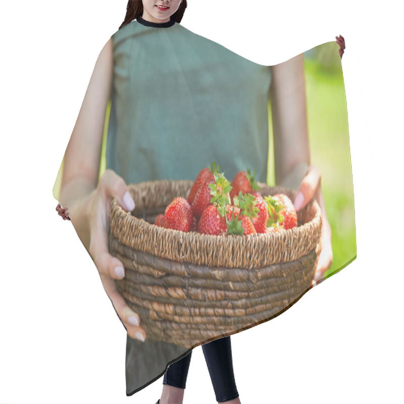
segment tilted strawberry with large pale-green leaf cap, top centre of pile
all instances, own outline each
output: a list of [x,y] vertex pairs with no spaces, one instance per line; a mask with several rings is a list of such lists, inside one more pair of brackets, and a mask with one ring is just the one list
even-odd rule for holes
[[193,199],[191,208],[196,219],[200,219],[204,210],[214,203],[218,206],[229,203],[230,183],[223,173],[215,172],[200,186]]

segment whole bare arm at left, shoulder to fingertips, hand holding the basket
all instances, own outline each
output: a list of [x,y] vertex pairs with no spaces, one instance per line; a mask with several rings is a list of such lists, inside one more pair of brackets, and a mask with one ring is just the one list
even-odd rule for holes
[[69,217],[82,243],[93,259],[99,276],[128,335],[144,341],[140,317],[126,304],[115,279],[122,279],[122,262],[109,253],[109,207],[116,198],[123,209],[132,211],[134,201],[125,181],[106,170],[98,181],[105,114],[113,81],[112,38],[105,44],[95,63],[83,104],[65,153],[60,202],[69,209]]

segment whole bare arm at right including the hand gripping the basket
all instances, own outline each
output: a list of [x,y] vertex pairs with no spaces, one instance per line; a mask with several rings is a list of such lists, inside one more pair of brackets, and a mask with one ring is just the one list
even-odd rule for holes
[[332,263],[331,227],[327,220],[320,171],[310,166],[304,54],[272,67],[272,122],[276,184],[298,190],[296,211],[315,198],[322,214],[321,252],[314,282]]

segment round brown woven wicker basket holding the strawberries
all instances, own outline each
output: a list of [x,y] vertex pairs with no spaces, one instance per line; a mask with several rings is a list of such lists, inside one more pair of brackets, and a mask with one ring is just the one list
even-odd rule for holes
[[[259,183],[262,195],[295,193]],[[140,316],[147,338],[187,348],[268,321],[311,286],[321,212],[312,201],[288,231],[210,236],[153,225],[192,181],[130,184],[135,210],[110,208],[110,252],[125,266],[117,287]]]

